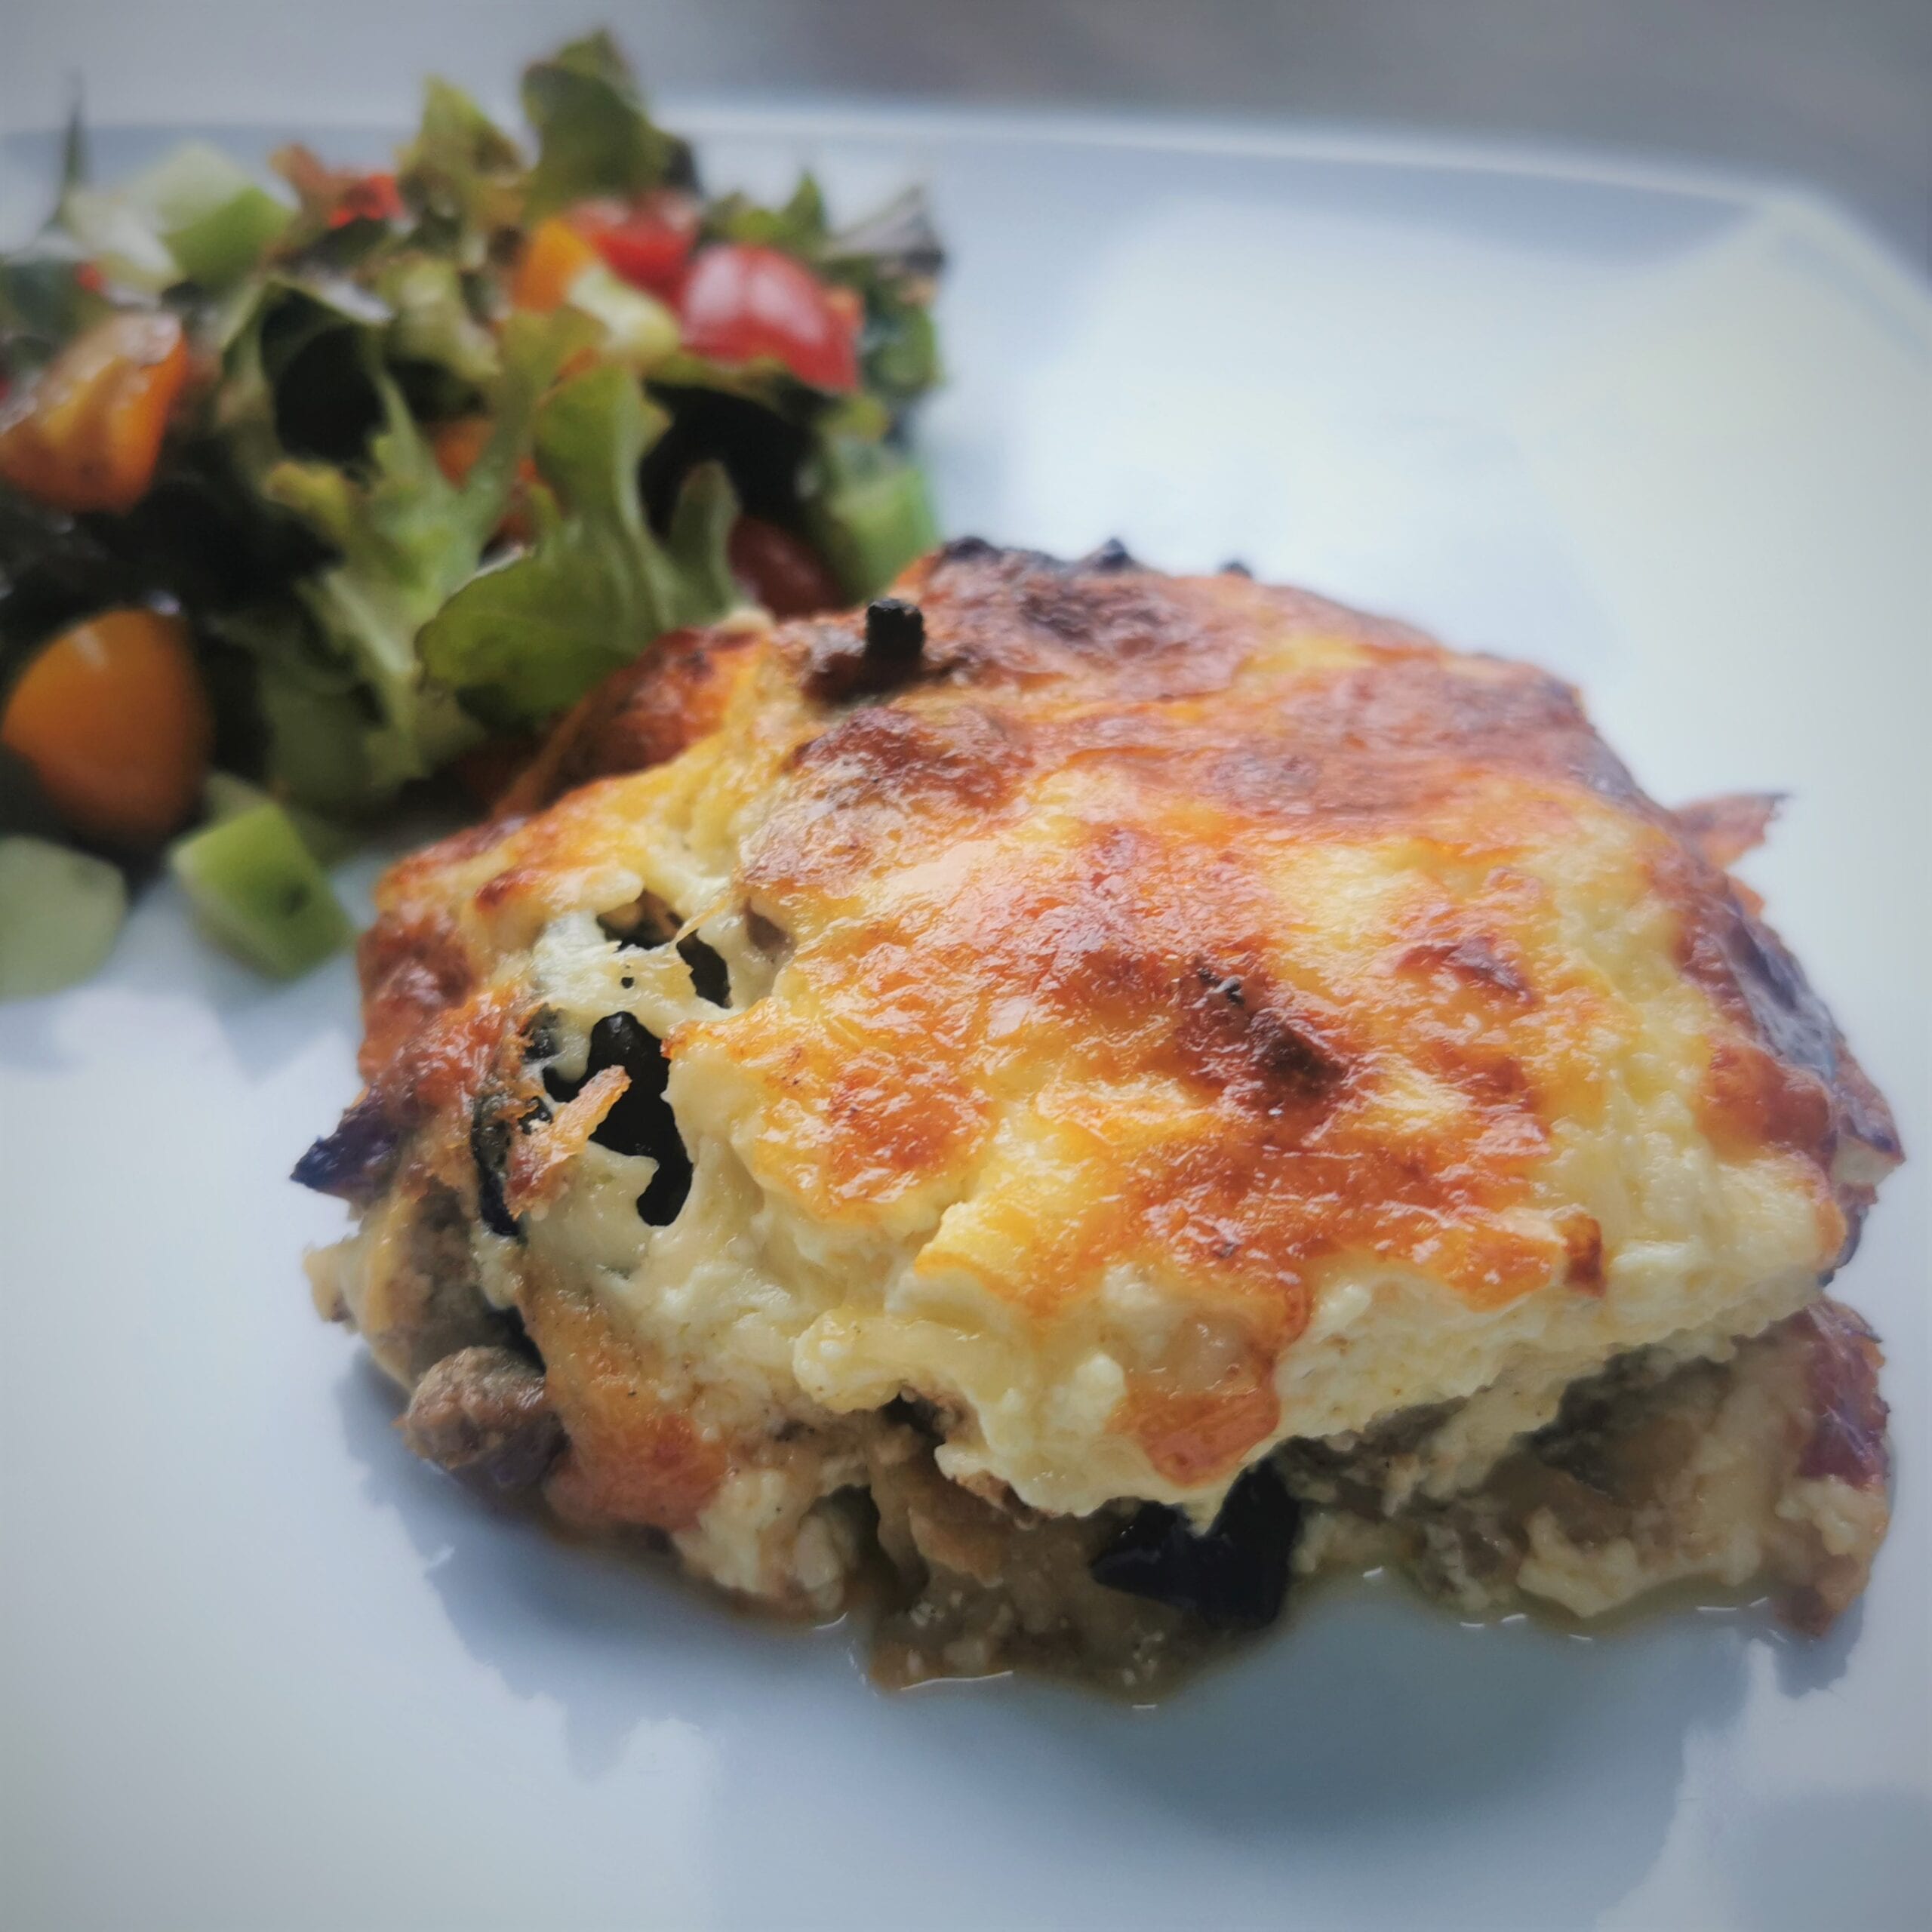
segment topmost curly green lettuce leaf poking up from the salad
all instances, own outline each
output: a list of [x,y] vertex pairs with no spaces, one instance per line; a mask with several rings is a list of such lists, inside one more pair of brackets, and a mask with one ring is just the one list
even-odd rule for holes
[[560,46],[524,70],[524,114],[537,131],[527,218],[595,195],[632,199],[692,180],[692,151],[665,133],[609,33]]

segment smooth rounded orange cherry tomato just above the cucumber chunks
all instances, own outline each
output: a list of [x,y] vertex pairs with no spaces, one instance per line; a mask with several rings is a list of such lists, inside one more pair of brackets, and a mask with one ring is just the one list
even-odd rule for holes
[[87,838],[156,846],[195,810],[214,715],[187,626],[158,611],[102,611],[21,672],[0,744]]

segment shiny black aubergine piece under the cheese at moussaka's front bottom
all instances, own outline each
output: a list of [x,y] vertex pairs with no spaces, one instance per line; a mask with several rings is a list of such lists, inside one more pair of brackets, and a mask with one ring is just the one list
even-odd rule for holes
[[1179,1509],[1148,1503],[1094,1557],[1090,1575],[1211,1629],[1254,1631],[1281,1615],[1300,1519],[1275,1468],[1258,1463],[1227,1492],[1211,1528],[1198,1532]]

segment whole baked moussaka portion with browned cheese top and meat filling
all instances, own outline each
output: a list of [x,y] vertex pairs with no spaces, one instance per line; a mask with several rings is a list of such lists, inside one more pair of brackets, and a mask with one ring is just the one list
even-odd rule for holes
[[1886,1524],[1822,1298],[1886,1107],[1575,694],[1240,572],[952,545],[670,639],[396,866],[299,1179],[408,1441],[1142,1681],[1294,1571],[1594,1615]]

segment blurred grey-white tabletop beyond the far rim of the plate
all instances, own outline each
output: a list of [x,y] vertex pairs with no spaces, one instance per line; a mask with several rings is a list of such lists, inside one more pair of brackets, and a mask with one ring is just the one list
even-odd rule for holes
[[504,100],[607,21],[667,97],[1136,108],[1561,139],[1806,182],[1932,265],[1932,0],[0,0],[0,131]]

